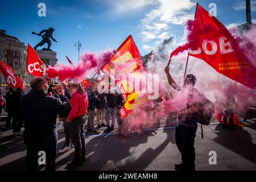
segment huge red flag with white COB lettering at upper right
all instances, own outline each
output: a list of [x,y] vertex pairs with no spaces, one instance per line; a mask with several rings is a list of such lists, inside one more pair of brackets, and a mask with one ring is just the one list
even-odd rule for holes
[[[189,55],[204,60],[217,72],[252,89],[256,87],[256,68],[247,59],[226,27],[197,4],[195,15],[198,49]],[[200,31],[201,30],[201,31]]]

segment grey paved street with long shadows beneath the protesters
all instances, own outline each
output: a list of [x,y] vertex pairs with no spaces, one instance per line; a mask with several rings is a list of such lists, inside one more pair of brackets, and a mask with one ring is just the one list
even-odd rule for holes
[[[204,126],[204,139],[198,127],[196,148],[197,170],[256,170],[256,120],[244,123],[238,130],[224,130],[221,125]],[[162,123],[162,122],[161,122]],[[162,123],[163,124],[163,123]],[[106,135],[86,136],[86,162],[75,170],[174,170],[180,162],[175,145],[174,127],[160,126],[131,134],[127,139]],[[58,127],[58,148],[64,144],[64,132]],[[6,131],[7,132],[7,131]],[[10,131],[11,132],[11,131]],[[0,138],[0,170],[24,170],[26,145],[22,137]],[[209,165],[209,151],[217,152],[217,165]],[[74,148],[56,159],[57,170],[74,155]],[[43,169],[43,168],[42,168]]]

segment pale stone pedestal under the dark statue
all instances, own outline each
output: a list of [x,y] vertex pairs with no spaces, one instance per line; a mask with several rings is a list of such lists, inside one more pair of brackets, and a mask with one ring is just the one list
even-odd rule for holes
[[[48,67],[48,65],[54,67],[54,65],[57,64],[58,59],[57,53],[55,51],[36,50],[36,53],[38,53],[38,56],[44,62],[46,68]],[[32,78],[34,78],[34,76],[28,74],[28,84],[30,83]]]

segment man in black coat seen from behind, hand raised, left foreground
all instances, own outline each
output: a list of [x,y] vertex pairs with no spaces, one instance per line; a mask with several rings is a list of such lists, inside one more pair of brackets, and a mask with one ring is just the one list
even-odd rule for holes
[[64,96],[64,90],[56,90],[60,99],[48,96],[47,80],[35,77],[30,82],[30,93],[22,97],[24,113],[24,143],[27,144],[26,169],[36,170],[39,157],[46,154],[46,170],[55,170],[57,151],[57,114],[66,115],[71,104]]

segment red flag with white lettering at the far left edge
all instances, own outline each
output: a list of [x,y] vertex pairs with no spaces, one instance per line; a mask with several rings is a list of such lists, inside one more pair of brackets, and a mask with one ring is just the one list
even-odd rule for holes
[[0,60],[0,71],[2,72],[8,86],[12,86],[13,88],[21,88],[25,89],[24,82],[16,75],[14,75],[13,69]]

